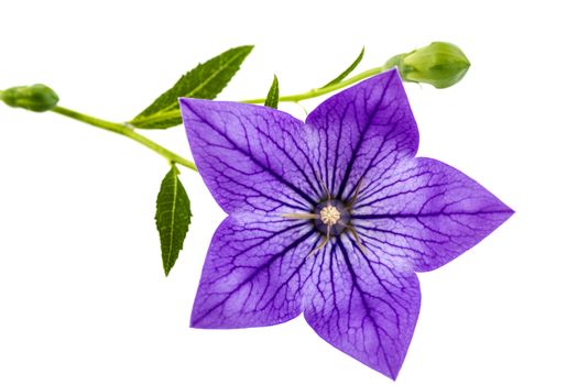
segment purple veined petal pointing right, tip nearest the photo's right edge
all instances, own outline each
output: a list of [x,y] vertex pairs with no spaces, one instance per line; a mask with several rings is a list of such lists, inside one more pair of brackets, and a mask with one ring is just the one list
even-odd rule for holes
[[513,211],[459,170],[435,160],[406,160],[362,185],[352,223],[363,242],[437,268],[476,245]]

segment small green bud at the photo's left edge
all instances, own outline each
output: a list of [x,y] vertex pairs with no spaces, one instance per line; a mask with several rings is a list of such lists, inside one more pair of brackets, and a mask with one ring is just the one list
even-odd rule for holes
[[44,85],[12,87],[0,92],[0,99],[10,107],[35,112],[48,111],[58,102],[56,92]]

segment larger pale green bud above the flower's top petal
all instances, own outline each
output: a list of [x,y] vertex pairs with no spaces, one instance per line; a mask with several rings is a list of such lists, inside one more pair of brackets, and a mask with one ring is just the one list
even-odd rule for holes
[[404,81],[427,82],[436,88],[454,86],[468,72],[470,62],[456,45],[434,42],[426,47],[393,56],[386,68],[397,66]]

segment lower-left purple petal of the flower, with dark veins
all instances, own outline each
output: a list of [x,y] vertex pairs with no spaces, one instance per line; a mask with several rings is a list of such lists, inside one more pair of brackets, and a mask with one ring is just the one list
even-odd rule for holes
[[310,274],[306,256],[318,238],[305,221],[252,213],[225,219],[205,261],[190,326],[249,328],[297,317]]

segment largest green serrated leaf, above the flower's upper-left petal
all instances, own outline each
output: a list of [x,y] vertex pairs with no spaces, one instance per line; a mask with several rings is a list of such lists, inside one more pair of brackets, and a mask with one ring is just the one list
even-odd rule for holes
[[161,95],[130,123],[139,129],[167,129],[181,124],[182,119],[177,112],[178,98],[215,99],[252,50],[252,45],[243,45],[199,64],[183,75],[173,88]]

